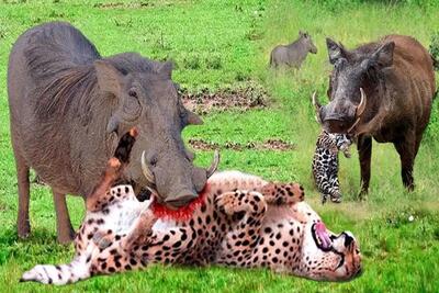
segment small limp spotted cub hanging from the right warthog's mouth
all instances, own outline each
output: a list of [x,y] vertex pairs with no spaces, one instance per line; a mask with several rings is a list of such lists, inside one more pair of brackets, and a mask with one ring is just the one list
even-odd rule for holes
[[334,203],[342,200],[338,179],[338,153],[341,151],[346,158],[350,158],[349,147],[352,143],[353,138],[349,134],[333,134],[324,129],[317,137],[312,171],[323,204],[328,199]]

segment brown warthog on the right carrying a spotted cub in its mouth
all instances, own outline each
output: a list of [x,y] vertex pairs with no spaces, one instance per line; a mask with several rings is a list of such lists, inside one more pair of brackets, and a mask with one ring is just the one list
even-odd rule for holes
[[389,35],[353,50],[327,38],[329,104],[317,116],[325,129],[358,136],[361,194],[368,192],[372,138],[393,143],[401,157],[403,183],[413,190],[413,166],[435,94],[432,58],[415,38]]

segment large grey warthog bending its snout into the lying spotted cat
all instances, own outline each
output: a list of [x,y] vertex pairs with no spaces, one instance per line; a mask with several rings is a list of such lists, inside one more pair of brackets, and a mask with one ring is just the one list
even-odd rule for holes
[[19,236],[30,233],[29,170],[52,187],[58,240],[71,239],[65,194],[87,196],[119,138],[136,126],[139,136],[124,172],[139,192],[155,189],[169,207],[195,199],[216,168],[194,167],[181,131],[201,124],[178,97],[170,63],[135,53],[101,57],[67,23],[22,34],[9,59],[11,138],[19,182]]

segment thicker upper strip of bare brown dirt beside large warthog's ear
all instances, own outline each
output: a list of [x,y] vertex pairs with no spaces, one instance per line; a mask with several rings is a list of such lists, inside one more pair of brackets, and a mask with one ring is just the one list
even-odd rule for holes
[[206,114],[211,111],[262,109],[268,105],[270,100],[267,91],[257,83],[250,83],[240,88],[225,88],[212,92],[203,89],[196,93],[188,92],[187,89],[180,90],[183,104],[189,110],[198,114]]

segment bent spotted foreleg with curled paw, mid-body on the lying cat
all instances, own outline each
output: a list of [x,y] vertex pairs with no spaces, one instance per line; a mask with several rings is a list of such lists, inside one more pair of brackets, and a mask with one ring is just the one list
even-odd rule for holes
[[[248,267],[250,256],[259,241],[267,202],[260,192],[226,192],[215,199],[215,206],[232,221],[232,228],[222,243],[217,263]],[[235,217],[240,219],[234,221]]]

